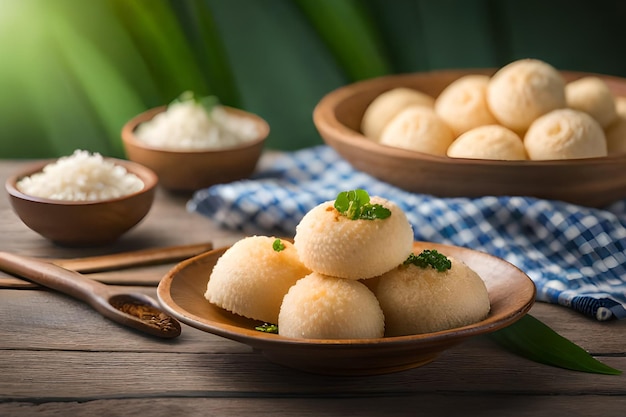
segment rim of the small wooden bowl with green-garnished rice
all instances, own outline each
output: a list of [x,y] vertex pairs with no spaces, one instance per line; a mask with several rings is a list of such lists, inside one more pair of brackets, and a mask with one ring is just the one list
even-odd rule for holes
[[242,151],[249,148],[257,147],[263,144],[267,137],[270,134],[270,125],[263,117],[251,113],[242,109],[237,109],[235,107],[222,105],[227,112],[240,115],[255,121],[257,126],[261,127],[260,133],[257,137],[252,140],[239,143],[237,145],[229,146],[226,148],[219,149],[172,149],[172,148],[164,148],[160,146],[153,146],[147,144],[137,138],[135,135],[135,130],[137,127],[144,122],[152,120],[154,116],[159,113],[162,113],[167,110],[167,105],[157,106],[150,108],[146,111],[139,113],[138,115],[132,117],[122,126],[121,137],[122,142],[124,144],[129,144],[135,146],[136,148],[145,149],[153,152],[161,152],[164,154],[172,154],[172,155],[198,155],[198,154],[206,154],[206,155],[223,155],[225,152],[237,152]]

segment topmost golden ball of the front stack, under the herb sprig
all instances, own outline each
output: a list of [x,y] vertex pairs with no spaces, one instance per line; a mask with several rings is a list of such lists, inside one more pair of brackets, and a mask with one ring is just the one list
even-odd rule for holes
[[413,248],[413,228],[395,203],[372,196],[371,204],[391,211],[386,219],[352,220],[334,201],[304,215],[296,226],[294,246],[304,265],[333,277],[367,279],[404,262]]

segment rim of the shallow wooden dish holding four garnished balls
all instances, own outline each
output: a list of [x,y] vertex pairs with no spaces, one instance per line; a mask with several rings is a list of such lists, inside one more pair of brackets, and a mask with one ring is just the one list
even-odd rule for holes
[[[434,242],[415,242],[414,245],[419,244],[428,244],[431,247],[436,247],[437,249],[442,249],[445,251],[446,249],[452,248],[455,251],[461,252],[477,252],[475,250],[447,245],[447,244],[438,244]],[[201,261],[204,258],[210,256],[218,256],[220,253],[226,251],[228,247],[216,248],[211,251],[205,252],[203,254],[197,255],[195,257],[189,258],[185,261],[180,262],[176,266],[174,266],[159,282],[157,287],[157,297],[163,306],[163,308],[172,314],[174,317],[179,319],[181,322],[195,327],[197,329],[203,330],[205,332],[209,332],[218,336],[222,336],[231,340],[236,340],[241,343],[245,343],[254,347],[258,347],[260,349],[272,349],[273,347],[285,347],[290,346],[293,348],[310,348],[311,346],[319,346],[328,349],[368,349],[372,346],[383,346],[387,348],[399,348],[403,346],[413,345],[415,343],[423,343],[423,346],[428,345],[441,345],[443,343],[450,343],[451,340],[465,340],[467,338],[477,336],[480,334],[490,333],[501,329],[505,326],[513,324],[517,320],[519,320],[522,316],[528,313],[535,302],[536,297],[536,287],[534,282],[528,277],[523,271],[517,268],[515,265],[498,258],[494,255],[479,252],[481,256],[485,258],[492,259],[501,264],[506,264],[508,267],[512,268],[512,270],[516,270],[518,274],[523,275],[527,281],[525,281],[525,285],[528,286],[526,290],[529,290],[527,299],[524,302],[520,302],[519,306],[515,309],[507,310],[506,314],[502,314],[501,316],[493,316],[490,312],[489,316],[485,319],[480,320],[475,323],[470,323],[465,326],[456,327],[452,329],[441,330],[437,332],[431,333],[423,333],[423,334],[414,334],[414,335],[405,335],[405,336],[386,336],[382,338],[366,338],[366,339],[307,339],[307,338],[289,338],[277,334],[268,334],[259,331],[242,328],[240,326],[231,325],[228,323],[220,323],[212,320],[198,321],[196,319],[195,314],[186,315],[188,313],[183,307],[181,307],[173,298],[171,292],[171,286],[176,274],[180,273],[180,271],[184,270],[191,264],[194,264],[198,261]],[[219,256],[218,256],[219,258]],[[216,259],[217,261],[217,259]],[[208,278],[208,277],[207,277]],[[532,288],[531,288],[532,287]],[[207,301],[208,303],[208,301]],[[226,310],[224,310],[226,311]],[[227,312],[229,313],[229,312]],[[233,313],[229,313],[233,314]],[[202,318],[200,318],[202,319]]]

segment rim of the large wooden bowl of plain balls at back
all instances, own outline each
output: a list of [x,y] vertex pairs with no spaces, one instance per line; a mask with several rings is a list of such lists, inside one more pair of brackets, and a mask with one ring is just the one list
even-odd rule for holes
[[[432,155],[424,152],[413,151],[409,149],[397,148],[389,145],[383,145],[368,139],[363,133],[358,130],[351,129],[342,122],[339,121],[336,114],[336,108],[343,103],[346,99],[354,97],[357,94],[363,93],[372,87],[379,86],[386,81],[402,81],[404,79],[413,79],[415,77],[429,77],[436,75],[469,75],[469,74],[489,74],[493,73],[496,69],[493,68],[468,68],[468,69],[440,69],[424,72],[412,72],[384,75],[381,77],[374,77],[366,80],[357,81],[352,84],[340,86],[327,94],[325,94],[321,100],[315,105],[313,109],[313,121],[316,127],[323,133],[322,136],[327,134],[334,134],[333,142],[342,142],[349,144],[350,146],[359,146],[363,150],[369,152],[382,153],[389,157],[403,158],[403,159],[421,159],[433,163],[440,163],[443,165],[454,165],[462,163],[464,165],[474,166],[492,166],[492,167],[560,167],[560,166],[594,166],[597,164],[623,164],[626,162],[626,153],[617,155],[608,155],[603,157],[594,158],[572,158],[572,159],[551,159],[551,160],[522,160],[522,161],[509,161],[509,160],[497,160],[497,159],[478,159],[478,158],[452,158],[448,156]],[[570,77],[582,77],[582,76],[598,76],[608,80],[615,80],[624,83],[624,80],[604,74],[580,72],[580,71],[559,71],[559,73]],[[393,88],[393,87],[390,87]],[[381,91],[387,91],[389,88],[382,89]],[[325,138],[328,142],[328,140]]]

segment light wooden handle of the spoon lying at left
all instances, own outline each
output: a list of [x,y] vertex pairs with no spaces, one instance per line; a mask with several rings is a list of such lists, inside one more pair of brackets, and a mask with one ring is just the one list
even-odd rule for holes
[[90,304],[107,292],[106,285],[78,272],[27,256],[0,252],[0,269]]

